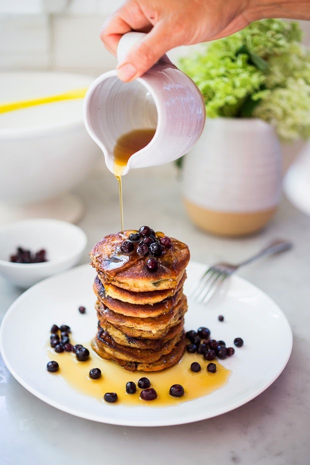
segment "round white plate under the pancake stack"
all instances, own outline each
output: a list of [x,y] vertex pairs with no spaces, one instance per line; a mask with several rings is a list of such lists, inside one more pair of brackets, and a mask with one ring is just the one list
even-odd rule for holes
[[[190,262],[185,294],[206,266]],[[290,356],[292,333],[279,307],[261,290],[237,276],[227,280],[206,305],[188,300],[185,330],[207,326],[233,345],[244,345],[221,360],[231,370],[227,384],[203,397],[177,405],[151,407],[105,404],[88,397],[46,366],[46,341],[53,323],[69,324],[75,340],[90,340],[97,326],[92,281],[95,271],[82,265],[34,285],[18,297],[0,327],[0,350],[11,374],[41,400],[73,415],[103,423],[128,426],[164,426],[189,423],[230,411],[266,389],[281,373]],[[79,305],[87,312],[80,314]],[[218,315],[224,321],[218,321]],[[18,346],[16,346],[18,341]]]

